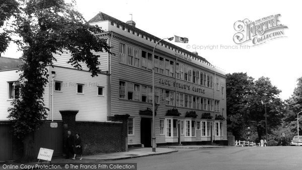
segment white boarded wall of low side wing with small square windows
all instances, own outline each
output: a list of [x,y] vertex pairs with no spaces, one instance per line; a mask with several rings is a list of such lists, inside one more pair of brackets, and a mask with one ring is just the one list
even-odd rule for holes
[[[61,83],[60,91],[53,93],[53,120],[62,120],[60,110],[79,110],[77,121],[107,121],[107,75],[99,74],[92,77],[88,71],[54,66],[48,67],[49,83],[44,91],[44,104],[49,108],[48,120],[51,120],[51,71],[55,71],[54,81]],[[8,83],[17,81],[17,70],[0,71],[0,121],[9,120],[7,109],[11,107]],[[84,85],[84,93],[77,93],[77,84]],[[98,95],[98,88],[103,94]]]

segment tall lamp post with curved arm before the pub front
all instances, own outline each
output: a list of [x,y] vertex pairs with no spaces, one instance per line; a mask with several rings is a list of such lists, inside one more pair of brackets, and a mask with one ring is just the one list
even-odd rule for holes
[[154,100],[154,94],[155,94],[155,87],[154,87],[154,51],[156,46],[162,41],[168,39],[170,41],[172,41],[174,39],[174,37],[170,37],[170,38],[163,38],[160,41],[158,41],[154,48],[153,48],[153,52],[152,52],[152,131],[153,131],[153,135],[152,135],[152,151],[156,152],[156,137],[155,137],[155,100]]

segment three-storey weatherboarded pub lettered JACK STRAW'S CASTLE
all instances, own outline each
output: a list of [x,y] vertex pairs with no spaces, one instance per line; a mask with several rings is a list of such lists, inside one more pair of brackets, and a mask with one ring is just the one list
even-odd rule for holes
[[[156,143],[223,143],[225,72],[192,53],[104,13],[89,21],[105,30],[115,55],[101,56],[108,78],[109,115],[129,114],[128,145],[152,146],[152,92]],[[152,64],[155,62],[155,89]]]

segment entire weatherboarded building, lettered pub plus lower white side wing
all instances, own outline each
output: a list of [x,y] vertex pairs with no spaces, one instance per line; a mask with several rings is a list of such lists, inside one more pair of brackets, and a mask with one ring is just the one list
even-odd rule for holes
[[[104,13],[90,24],[105,31],[111,52],[99,53],[103,74],[91,77],[84,67],[76,70],[67,63],[70,54],[57,61],[53,93],[53,119],[60,110],[79,110],[77,121],[107,121],[107,116],[129,114],[128,145],[152,144],[152,92],[159,104],[155,117],[158,144],[226,141],[225,73],[205,58],[189,52]],[[155,60],[155,89],[152,89],[152,62]],[[16,68],[0,70],[0,120],[7,119]],[[51,82],[51,76],[49,77]],[[51,109],[51,86],[44,100]],[[174,109],[174,110],[171,110]],[[177,109],[178,113],[175,112]],[[51,119],[51,110],[48,119]]]

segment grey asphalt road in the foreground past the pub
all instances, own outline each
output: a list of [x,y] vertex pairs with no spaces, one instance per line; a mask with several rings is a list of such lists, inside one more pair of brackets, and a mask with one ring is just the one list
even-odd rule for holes
[[302,169],[302,147],[180,149],[171,154],[114,160],[137,169]]

